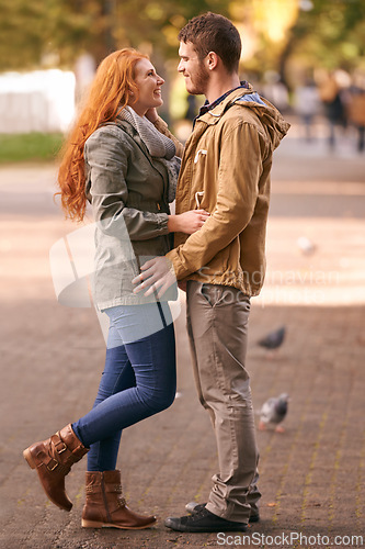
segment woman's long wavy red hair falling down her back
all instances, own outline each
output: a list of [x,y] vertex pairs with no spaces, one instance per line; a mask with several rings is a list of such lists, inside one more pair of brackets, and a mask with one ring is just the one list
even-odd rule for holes
[[132,48],[118,49],[100,64],[89,96],[60,153],[58,187],[66,217],[82,221],[87,208],[83,146],[88,137],[117,114],[133,98],[138,99],[135,67],[147,55]]

